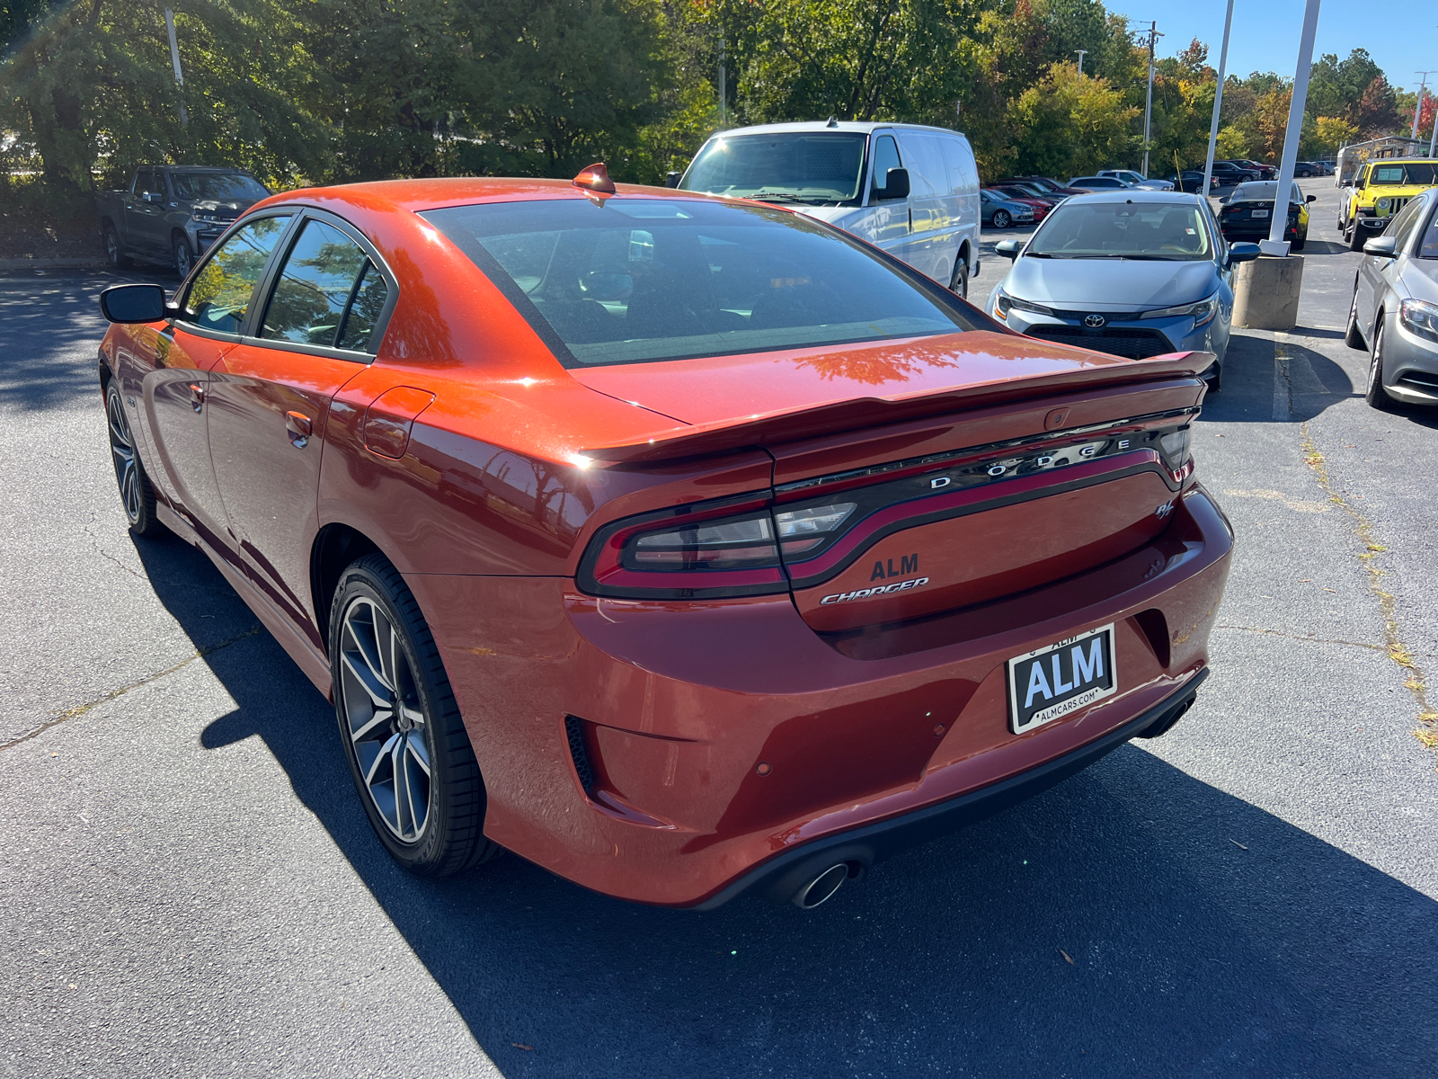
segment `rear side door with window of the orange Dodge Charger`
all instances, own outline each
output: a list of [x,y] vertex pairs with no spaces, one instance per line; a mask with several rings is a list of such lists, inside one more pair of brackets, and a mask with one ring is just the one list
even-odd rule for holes
[[263,309],[210,373],[210,456],[240,555],[318,645],[309,601],[319,463],[335,393],[365,370],[397,295],[349,224],[306,211]]

